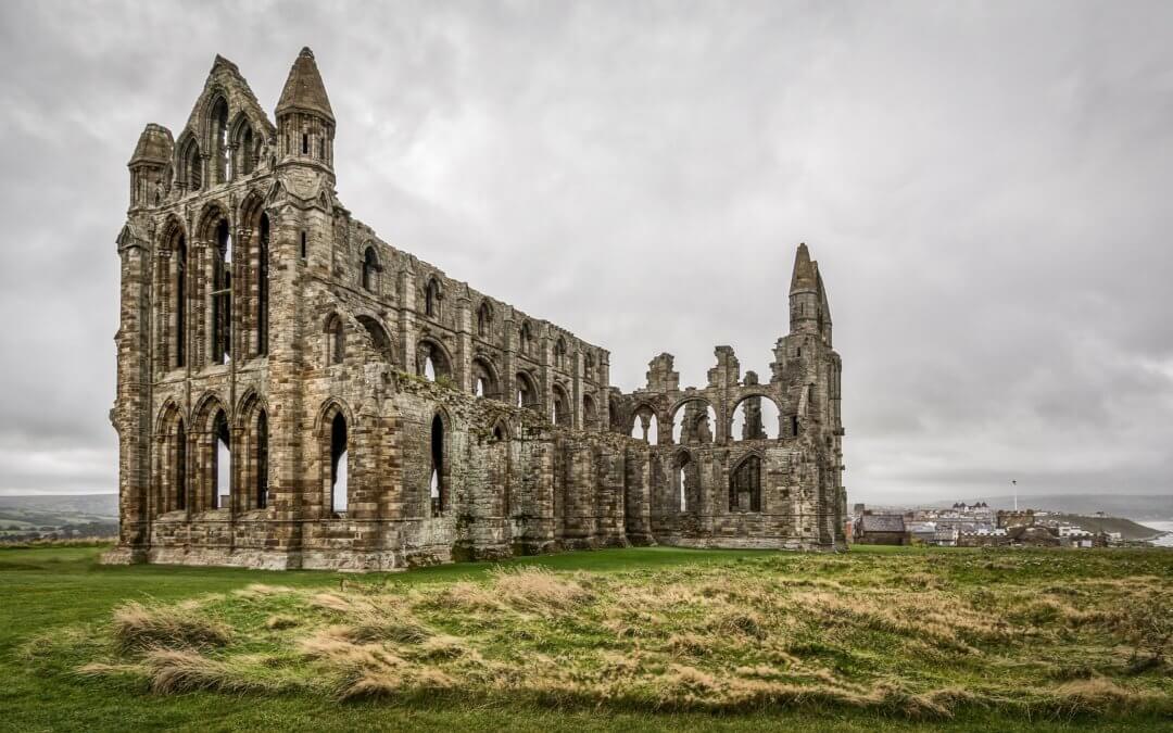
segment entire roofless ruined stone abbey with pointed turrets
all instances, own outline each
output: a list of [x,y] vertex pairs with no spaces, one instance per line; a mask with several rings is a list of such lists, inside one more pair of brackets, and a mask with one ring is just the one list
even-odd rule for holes
[[217,56],[178,137],[143,130],[117,238],[107,562],[387,570],[630,543],[843,547],[840,360],[805,246],[768,384],[721,346],[704,388],[680,389],[662,354],[623,394],[606,349],[353,218],[334,133],[310,49],[276,124]]

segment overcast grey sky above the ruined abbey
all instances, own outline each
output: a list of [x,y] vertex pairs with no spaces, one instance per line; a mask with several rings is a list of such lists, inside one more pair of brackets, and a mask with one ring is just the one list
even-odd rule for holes
[[116,490],[126,163],[313,48],[338,192],[611,351],[768,374],[794,247],[850,501],[1173,489],[1173,4],[0,5],[0,493]]

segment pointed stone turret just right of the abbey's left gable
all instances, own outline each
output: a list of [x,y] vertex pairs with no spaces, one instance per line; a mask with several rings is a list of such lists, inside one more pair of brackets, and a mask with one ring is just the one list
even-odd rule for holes
[[277,102],[277,147],[282,162],[311,163],[333,175],[334,110],[308,48],[298,54]]

